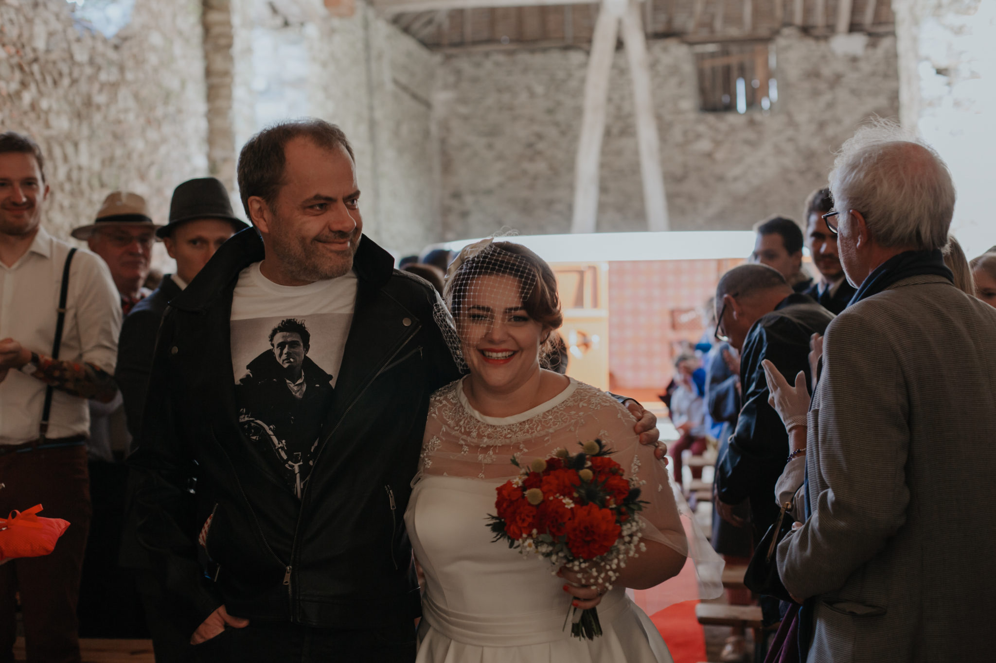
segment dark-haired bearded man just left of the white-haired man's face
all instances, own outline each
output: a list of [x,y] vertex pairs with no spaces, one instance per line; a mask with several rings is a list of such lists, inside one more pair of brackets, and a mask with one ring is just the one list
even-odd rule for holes
[[834,209],[834,199],[830,189],[817,189],[806,199],[804,218],[806,219],[806,245],[813,257],[813,264],[820,272],[820,278],[811,285],[806,294],[820,302],[820,305],[833,314],[844,310],[855,296],[855,286],[848,282],[837,252],[837,236],[830,232],[823,221],[823,215]]

